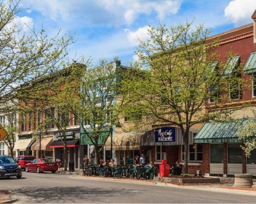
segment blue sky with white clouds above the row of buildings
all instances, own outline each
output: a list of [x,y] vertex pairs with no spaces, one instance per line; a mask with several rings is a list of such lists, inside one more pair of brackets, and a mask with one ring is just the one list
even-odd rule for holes
[[69,48],[71,59],[118,56],[123,65],[137,59],[138,38],[147,35],[147,25],[178,25],[195,18],[215,35],[252,22],[256,0],[21,0],[27,8],[15,20],[42,28],[49,35],[77,36]]

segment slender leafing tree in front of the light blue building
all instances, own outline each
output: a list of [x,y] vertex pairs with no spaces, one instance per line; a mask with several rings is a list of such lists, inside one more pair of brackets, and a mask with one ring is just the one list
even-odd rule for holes
[[97,67],[80,72],[81,88],[75,94],[73,113],[82,133],[95,147],[95,163],[117,121],[115,104],[122,68],[117,59],[101,59]]

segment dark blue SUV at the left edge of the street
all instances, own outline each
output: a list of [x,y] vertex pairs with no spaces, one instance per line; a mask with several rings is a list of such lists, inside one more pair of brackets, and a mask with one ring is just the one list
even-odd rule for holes
[[10,156],[0,156],[0,177],[22,177],[22,168]]

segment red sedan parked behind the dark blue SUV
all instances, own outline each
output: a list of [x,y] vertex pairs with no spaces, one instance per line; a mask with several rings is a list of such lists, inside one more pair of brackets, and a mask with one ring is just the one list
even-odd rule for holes
[[42,171],[51,171],[52,173],[55,173],[58,170],[58,164],[50,159],[38,158],[31,161],[31,163],[26,164],[25,170],[27,172],[36,171],[37,173],[40,173]]

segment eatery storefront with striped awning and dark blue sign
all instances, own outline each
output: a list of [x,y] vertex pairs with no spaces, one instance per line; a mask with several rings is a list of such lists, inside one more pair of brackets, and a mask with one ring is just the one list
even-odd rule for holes
[[[200,126],[189,129],[188,173],[195,173],[202,165],[201,145],[193,143]],[[161,160],[166,160],[167,164],[175,164],[176,161],[184,164],[184,143],[180,127],[167,126],[148,131],[141,137],[141,150],[150,152],[149,160],[155,164],[160,164]]]

